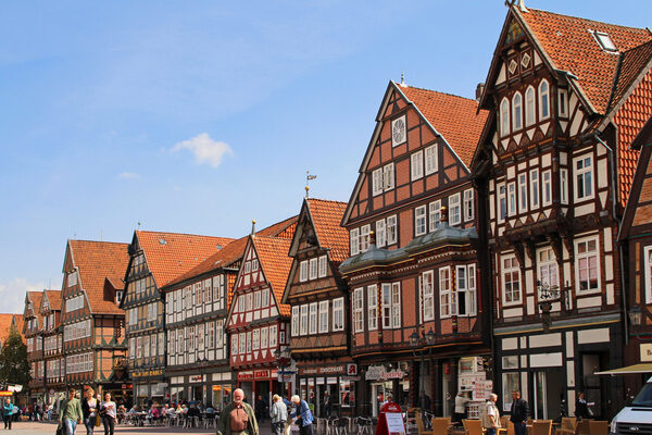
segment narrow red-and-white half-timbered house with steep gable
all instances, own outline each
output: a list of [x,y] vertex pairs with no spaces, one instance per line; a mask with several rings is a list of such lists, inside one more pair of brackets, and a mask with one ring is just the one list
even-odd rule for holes
[[230,368],[252,405],[258,396],[269,400],[281,389],[275,351],[289,345],[290,307],[281,303],[281,298],[291,264],[292,235],[250,235],[234,285],[226,326]]

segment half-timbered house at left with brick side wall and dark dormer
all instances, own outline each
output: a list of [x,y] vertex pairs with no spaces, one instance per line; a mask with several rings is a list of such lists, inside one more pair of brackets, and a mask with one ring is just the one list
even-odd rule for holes
[[65,385],[90,385],[128,400],[124,293],[127,244],[68,240],[63,261],[61,323]]

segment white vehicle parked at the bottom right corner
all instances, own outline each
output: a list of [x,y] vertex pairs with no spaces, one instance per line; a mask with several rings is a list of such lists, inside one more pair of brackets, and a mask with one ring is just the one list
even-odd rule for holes
[[614,417],[611,434],[652,435],[652,377],[631,403]]

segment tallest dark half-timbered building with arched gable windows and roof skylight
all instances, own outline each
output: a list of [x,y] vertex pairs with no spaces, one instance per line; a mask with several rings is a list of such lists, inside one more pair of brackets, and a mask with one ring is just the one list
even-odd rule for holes
[[[514,2],[512,2],[514,3]],[[624,399],[623,253],[616,244],[652,111],[652,34],[509,8],[480,98],[473,169],[488,200],[493,366],[501,409],[519,388],[553,419],[577,391],[607,419]],[[500,357],[500,358],[498,358]]]

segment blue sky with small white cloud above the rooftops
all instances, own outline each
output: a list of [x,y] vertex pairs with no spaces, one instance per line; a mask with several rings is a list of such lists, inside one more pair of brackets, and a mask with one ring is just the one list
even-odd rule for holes
[[[526,5],[635,27],[652,2]],[[0,312],[60,289],[68,238],[241,237],[348,201],[389,80],[475,98],[507,9],[481,1],[7,1]]]

